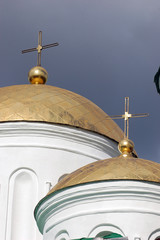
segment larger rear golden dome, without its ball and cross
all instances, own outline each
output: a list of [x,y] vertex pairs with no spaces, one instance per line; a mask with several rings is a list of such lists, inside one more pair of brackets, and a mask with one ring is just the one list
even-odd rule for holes
[[0,122],[38,121],[79,127],[117,142],[123,132],[88,99],[65,89],[43,84],[0,88]]

